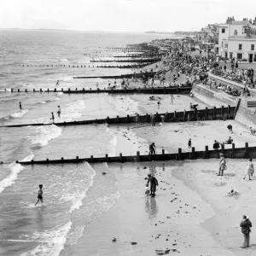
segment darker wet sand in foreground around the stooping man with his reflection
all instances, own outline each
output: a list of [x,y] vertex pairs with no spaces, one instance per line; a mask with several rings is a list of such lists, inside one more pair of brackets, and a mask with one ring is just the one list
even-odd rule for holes
[[[189,165],[187,177],[185,170]],[[199,161],[184,165],[183,162],[109,165],[107,175],[117,178],[119,201],[102,218],[88,224],[74,255],[234,255],[212,235],[223,224],[218,222],[212,228],[206,223],[217,213],[204,200],[208,192],[195,190],[194,183],[190,187],[185,184],[190,182],[189,177],[194,180],[193,172],[203,173],[199,166]],[[148,172],[154,173],[159,181],[154,198],[144,195],[144,177]],[[239,230],[236,236],[241,240]]]

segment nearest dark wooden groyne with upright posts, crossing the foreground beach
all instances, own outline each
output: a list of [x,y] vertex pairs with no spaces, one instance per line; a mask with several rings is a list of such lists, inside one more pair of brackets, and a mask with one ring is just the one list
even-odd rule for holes
[[[108,156],[106,154],[104,157],[94,157],[91,155],[87,158],[79,158],[76,156],[74,159],[64,159],[61,157],[59,160],[31,160],[31,161],[16,161],[20,165],[53,165],[53,164],[65,164],[65,163],[79,163],[79,162],[89,162],[89,163],[102,163],[102,162],[144,162],[144,161],[166,161],[166,160],[199,160],[199,159],[216,159],[218,161],[219,153],[224,154],[225,158],[230,159],[248,159],[256,158],[256,147],[248,147],[248,143],[245,143],[244,148],[236,148],[235,144],[232,144],[232,148],[224,148],[224,145],[219,150],[209,150],[208,146],[205,146],[205,150],[196,151],[195,147],[191,149],[191,152],[182,152],[182,148],[178,148],[177,153],[166,154],[165,149],[162,149],[161,154],[140,154],[137,151],[136,155],[125,156],[119,154],[119,156]],[[2,162],[3,164],[3,162]],[[218,170],[216,170],[218,172]]]

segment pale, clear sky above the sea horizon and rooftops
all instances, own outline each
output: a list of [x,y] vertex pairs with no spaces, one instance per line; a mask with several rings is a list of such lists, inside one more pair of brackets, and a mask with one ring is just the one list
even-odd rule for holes
[[0,0],[0,28],[199,31],[228,16],[254,19],[255,0]]

